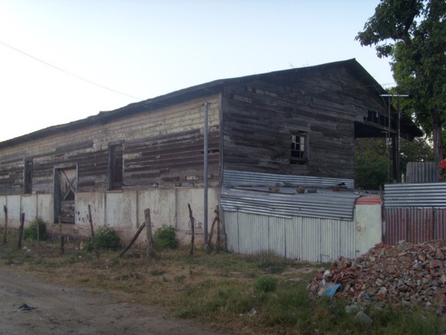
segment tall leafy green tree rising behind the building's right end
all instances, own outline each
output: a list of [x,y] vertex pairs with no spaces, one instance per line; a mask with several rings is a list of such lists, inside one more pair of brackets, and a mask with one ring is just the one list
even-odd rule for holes
[[381,0],[356,39],[392,59],[401,105],[433,142],[434,160],[443,158],[446,126],[446,1]]

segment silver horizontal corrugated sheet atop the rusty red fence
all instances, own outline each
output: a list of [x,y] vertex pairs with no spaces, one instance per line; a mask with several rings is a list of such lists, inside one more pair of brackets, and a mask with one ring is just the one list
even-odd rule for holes
[[446,207],[446,183],[387,184],[385,207]]

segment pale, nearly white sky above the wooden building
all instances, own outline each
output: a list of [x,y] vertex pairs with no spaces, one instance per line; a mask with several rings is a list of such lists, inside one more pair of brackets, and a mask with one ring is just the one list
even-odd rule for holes
[[355,40],[378,3],[0,0],[0,141],[217,79],[352,58],[389,88],[389,60]]

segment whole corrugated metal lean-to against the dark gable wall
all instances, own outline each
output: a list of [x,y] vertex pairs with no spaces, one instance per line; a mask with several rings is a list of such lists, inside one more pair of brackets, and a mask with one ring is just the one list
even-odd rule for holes
[[[286,258],[329,262],[355,257],[353,180],[223,172],[221,204],[229,251],[275,251]],[[351,191],[333,192],[343,185]],[[268,186],[279,186],[275,192]],[[296,186],[317,188],[298,193]]]

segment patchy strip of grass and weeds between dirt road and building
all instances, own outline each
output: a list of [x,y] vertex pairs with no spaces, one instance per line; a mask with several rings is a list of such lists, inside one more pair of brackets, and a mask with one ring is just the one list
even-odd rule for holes
[[48,242],[38,253],[32,241],[25,243],[29,252],[1,246],[0,267],[63,285],[113,290],[116,295],[123,292],[121,299],[157,305],[223,332],[443,334],[441,318],[416,307],[367,306],[364,312],[373,323],[362,325],[355,320],[355,313],[346,312],[346,303],[340,299],[308,299],[306,287],[314,274],[293,275],[301,281],[289,281],[287,273],[300,267],[314,268],[316,273],[321,265],[286,260],[270,252],[240,256],[197,251],[191,257],[188,248],[178,248],[147,260],[135,257],[139,255],[135,249],[126,258],[104,251],[101,260],[95,260],[88,251],[69,243],[63,256]]

